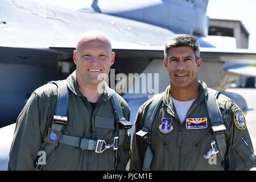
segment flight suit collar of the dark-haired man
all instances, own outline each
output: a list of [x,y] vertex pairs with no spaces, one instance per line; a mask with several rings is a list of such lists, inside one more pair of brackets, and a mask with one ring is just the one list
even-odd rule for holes
[[[191,109],[189,109],[188,114],[196,107],[196,105],[198,105],[202,101],[204,101],[205,97],[207,97],[207,96],[208,96],[207,84],[205,84],[205,82],[203,82],[203,81],[200,81],[199,93],[196,97],[193,107],[191,107]],[[170,85],[164,91],[163,104],[167,106],[167,113],[169,113],[175,117],[176,111],[174,109],[174,106],[173,106],[172,100],[171,100]]]

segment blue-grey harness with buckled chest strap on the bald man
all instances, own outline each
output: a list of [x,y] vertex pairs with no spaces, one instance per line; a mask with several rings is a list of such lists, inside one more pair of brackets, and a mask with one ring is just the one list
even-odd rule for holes
[[[121,126],[123,129],[119,129],[117,127],[117,136],[114,137],[114,141],[112,143],[107,144],[105,140],[98,139],[86,139],[79,137],[72,137],[69,135],[62,134],[64,126],[67,125],[68,117],[68,101],[69,101],[69,90],[66,84],[67,80],[61,81],[52,81],[49,83],[57,85],[58,88],[58,96],[57,96],[57,104],[55,109],[55,115],[53,116],[52,127],[48,129],[47,137],[44,138],[44,143],[40,147],[40,151],[46,152],[46,158],[51,154],[53,149],[58,146],[59,143],[68,144],[69,146],[79,147],[81,150],[94,150],[96,153],[102,153],[107,148],[113,148],[115,151],[115,156],[117,155],[117,149],[119,144],[122,144],[125,140],[125,130],[128,127],[132,126],[130,122],[126,121],[125,117],[123,117],[123,111],[121,105],[119,104],[118,97],[115,92],[113,92],[111,97],[112,106],[115,109],[115,113],[118,118],[118,126],[119,122],[121,122]],[[39,156],[38,156],[39,158]],[[35,163],[35,171],[41,171],[44,164],[38,162],[38,158]],[[117,159],[116,159],[117,160]],[[117,161],[115,161],[117,163]]]

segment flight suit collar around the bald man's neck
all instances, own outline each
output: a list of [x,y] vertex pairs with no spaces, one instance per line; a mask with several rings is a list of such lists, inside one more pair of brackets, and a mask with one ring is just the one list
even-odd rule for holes
[[[79,84],[76,81],[76,71],[74,71],[71,75],[68,76],[67,86],[68,86],[69,90],[71,90],[71,92],[73,94],[75,94],[76,96],[84,97],[84,95],[81,93],[81,91],[79,89]],[[105,82],[104,93],[101,94],[101,96],[97,102],[108,101],[110,99],[110,97],[112,96],[112,94],[113,94],[112,89],[110,89],[109,86]]]

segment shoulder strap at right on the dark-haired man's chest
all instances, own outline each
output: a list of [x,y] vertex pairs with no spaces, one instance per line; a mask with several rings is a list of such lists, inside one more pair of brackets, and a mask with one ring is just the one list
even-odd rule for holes
[[217,90],[208,88],[208,96],[205,97],[205,105],[207,106],[214,138],[218,146],[218,156],[221,159],[222,165],[226,168],[226,127],[216,100],[219,93],[220,92]]

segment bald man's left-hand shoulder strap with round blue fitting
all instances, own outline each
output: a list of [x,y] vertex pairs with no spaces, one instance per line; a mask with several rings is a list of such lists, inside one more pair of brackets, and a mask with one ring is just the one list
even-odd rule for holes
[[[53,115],[52,127],[48,129],[47,137],[44,139],[40,151],[46,152],[46,158],[51,154],[53,149],[58,145],[60,136],[64,129],[64,126],[68,122],[68,100],[69,91],[66,84],[66,80],[52,81],[48,84],[55,84],[58,88],[57,104],[55,109],[55,115]],[[38,156],[39,158],[39,156]],[[35,170],[41,171],[43,164],[38,162],[38,158],[35,163]]]

